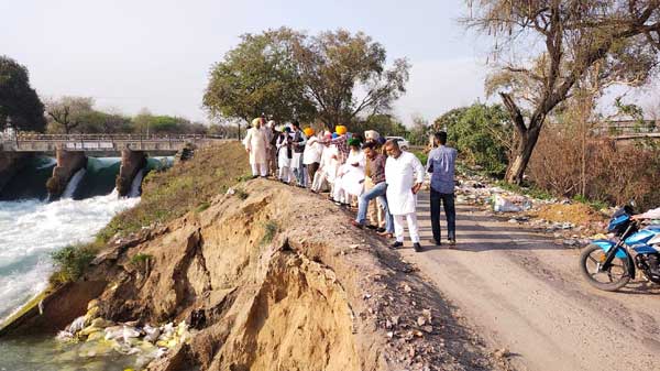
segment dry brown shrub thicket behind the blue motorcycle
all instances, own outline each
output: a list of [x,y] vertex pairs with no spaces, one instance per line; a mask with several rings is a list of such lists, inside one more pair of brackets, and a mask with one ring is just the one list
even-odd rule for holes
[[606,137],[576,135],[568,128],[546,130],[528,175],[557,196],[576,197],[594,207],[635,199],[642,208],[660,204],[660,149],[618,143]]

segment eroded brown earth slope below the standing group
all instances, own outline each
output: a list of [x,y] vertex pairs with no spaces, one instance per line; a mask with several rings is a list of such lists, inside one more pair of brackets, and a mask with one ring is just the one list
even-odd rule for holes
[[109,282],[108,319],[197,328],[151,370],[494,368],[437,292],[344,211],[271,181],[240,188],[113,242],[87,274]]

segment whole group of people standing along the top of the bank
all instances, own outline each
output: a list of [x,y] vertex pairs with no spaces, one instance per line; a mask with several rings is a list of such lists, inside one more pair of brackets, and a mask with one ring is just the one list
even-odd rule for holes
[[455,243],[454,162],[457,151],[448,148],[447,133],[433,138],[435,149],[425,166],[419,159],[387,141],[378,132],[349,133],[344,126],[334,132],[315,132],[298,121],[277,126],[256,118],[243,144],[250,154],[253,177],[270,174],[280,182],[328,192],[341,206],[356,206],[351,223],[373,228],[395,238],[393,248],[404,244],[405,225],[415,251],[421,251],[417,222],[417,193],[427,173],[431,174],[431,243],[441,244],[440,207],[444,205],[448,240]]

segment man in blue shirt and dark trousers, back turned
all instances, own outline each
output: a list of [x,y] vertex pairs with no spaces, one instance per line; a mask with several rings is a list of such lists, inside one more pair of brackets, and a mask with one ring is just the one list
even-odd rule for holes
[[454,168],[457,150],[447,146],[447,132],[436,133],[438,145],[429,153],[427,172],[431,173],[431,229],[432,242],[440,245],[440,204],[444,205],[449,244],[457,243],[457,210],[454,208]]

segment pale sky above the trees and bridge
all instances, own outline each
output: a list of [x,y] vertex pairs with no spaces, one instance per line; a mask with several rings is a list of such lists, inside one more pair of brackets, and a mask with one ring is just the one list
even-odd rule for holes
[[205,120],[208,72],[239,35],[282,25],[363,31],[413,65],[395,110],[408,123],[484,99],[486,50],[458,24],[465,12],[463,0],[6,0],[0,54],[29,68],[42,97]]

